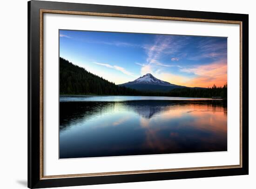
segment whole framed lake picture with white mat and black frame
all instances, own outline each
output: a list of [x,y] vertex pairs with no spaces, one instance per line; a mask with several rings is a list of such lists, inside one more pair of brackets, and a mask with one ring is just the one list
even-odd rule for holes
[[246,175],[249,16],[28,2],[28,187]]

